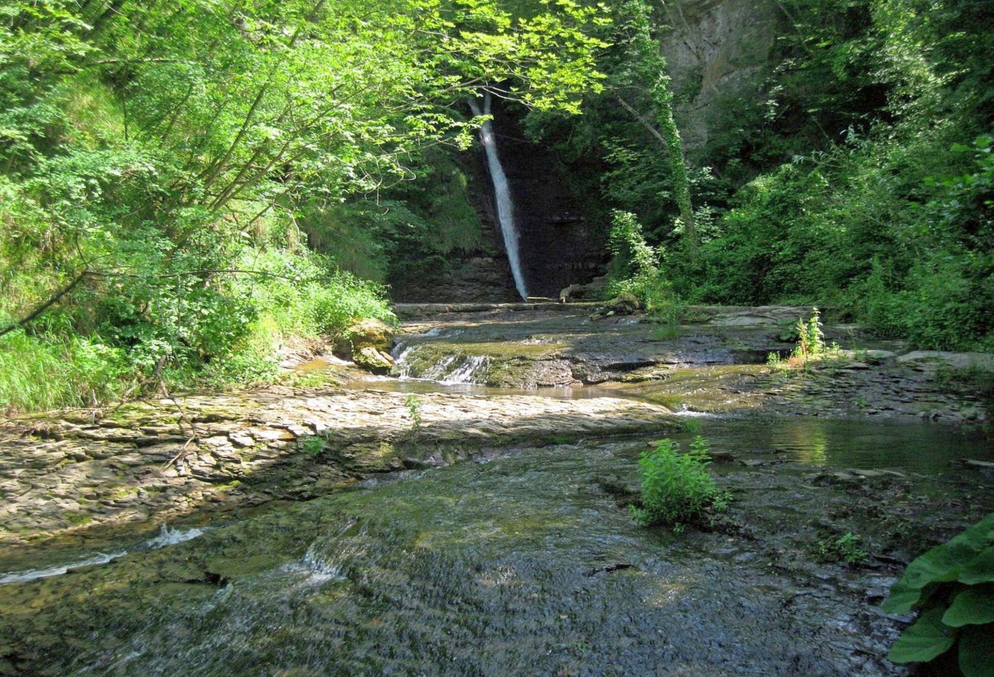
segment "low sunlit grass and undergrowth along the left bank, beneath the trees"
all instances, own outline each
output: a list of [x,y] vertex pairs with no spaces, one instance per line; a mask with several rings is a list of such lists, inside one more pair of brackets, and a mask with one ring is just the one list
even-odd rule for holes
[[67,305],[0,337],[0,411],[96,406],[160,385],[269,382],[290,337],[334,338],[362,317],[396,322],[381,286],[325,257],[246,247],[237,265],[252,274],[211,286],[122,285],[103,302],[102,322]]

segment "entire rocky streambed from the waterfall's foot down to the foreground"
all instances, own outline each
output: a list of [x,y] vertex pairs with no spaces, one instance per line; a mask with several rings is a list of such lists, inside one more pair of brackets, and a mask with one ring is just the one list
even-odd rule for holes
[[[877,605],[994,510],[983,355],[830,326],[847,358],[760,363],[805,309],[400,310],[398,368],[461,382],[3,422],[0,674],[903,674]],[[729,517],[640,529],[638,454],[687,421]]]

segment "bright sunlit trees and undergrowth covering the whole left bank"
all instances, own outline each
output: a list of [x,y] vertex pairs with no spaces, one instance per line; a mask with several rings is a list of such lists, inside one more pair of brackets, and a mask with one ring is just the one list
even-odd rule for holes
[[289,334],[393,320],[359,277],[385,280],[388,249],[479,240],[462,175],[425,160],[471,143],[466,97],[575,110],[598,87],[602,10],[512,4],[7,3],[0,331],[25,335],[3,406],[265,379]]

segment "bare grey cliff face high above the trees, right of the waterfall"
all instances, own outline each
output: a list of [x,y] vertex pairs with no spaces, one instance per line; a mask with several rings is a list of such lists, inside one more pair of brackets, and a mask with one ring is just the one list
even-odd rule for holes
[[762,83],[779,10],[770,0],[680,0],[665,4],[664,38],[677,123],[692,162],[764,98]]

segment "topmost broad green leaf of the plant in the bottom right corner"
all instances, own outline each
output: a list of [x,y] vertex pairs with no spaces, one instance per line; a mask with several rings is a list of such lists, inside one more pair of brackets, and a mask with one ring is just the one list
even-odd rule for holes
[[[982,563],[978,557],[994,545],[994,512],[953,537],[948,543],[936,546],[914,559],[891,589],[891,596],[884,601],[881,609],[890,613],[904,613],[918,605],[924,588],[934,583],[946,583],[960,579],[961,573],[969,571],[971,581],[983,579]],[[988,572],[989,575],[989,572]]]

